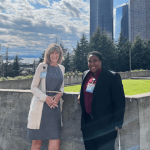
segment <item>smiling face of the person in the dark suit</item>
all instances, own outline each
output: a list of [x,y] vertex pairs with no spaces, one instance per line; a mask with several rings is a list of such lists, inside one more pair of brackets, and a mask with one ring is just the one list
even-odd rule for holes
[[96,73],[97,70],[101,69],[102,61],[95,55],[90,55],[88,58],[88,67],[91,72]]

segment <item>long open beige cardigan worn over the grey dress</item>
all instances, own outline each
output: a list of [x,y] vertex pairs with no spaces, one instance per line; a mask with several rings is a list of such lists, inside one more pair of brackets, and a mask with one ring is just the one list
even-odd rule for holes
[[[27,128],[29,129],[39,129],[42,117],[43,104],[47,98],[46,95],[46,82],[45,78],[40,78],[40,73],[47,71],[47,64],[40,63],[36,69],[32,84],[31,84],[31,92],[33,93],[33,97],[30,104],[30,110],[28,114],[28,124]],[[62,74],[64,76],[65,67],[59,65]],[[61,91],[64,91],[64,81],[61,85]],[[63,100],[60,99],[60,109],[62,111]]]

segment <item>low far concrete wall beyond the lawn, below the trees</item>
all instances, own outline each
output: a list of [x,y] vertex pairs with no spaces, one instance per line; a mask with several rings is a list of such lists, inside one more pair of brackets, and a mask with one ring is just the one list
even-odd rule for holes
[[[130,72],[118,72],[122,79],[128,79]],[[150,77],[150,70],[132,72],[131,77]],[[0,81],[0,89],[30,89],[32,79]],[[65,86],[81,84],[82,76],[64,77]]]

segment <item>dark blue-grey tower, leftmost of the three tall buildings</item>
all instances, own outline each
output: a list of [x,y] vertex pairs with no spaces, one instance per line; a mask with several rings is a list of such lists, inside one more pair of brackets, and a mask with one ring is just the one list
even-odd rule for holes
[[113,0],[90,0],[90,35],[97,26],[113,39]]

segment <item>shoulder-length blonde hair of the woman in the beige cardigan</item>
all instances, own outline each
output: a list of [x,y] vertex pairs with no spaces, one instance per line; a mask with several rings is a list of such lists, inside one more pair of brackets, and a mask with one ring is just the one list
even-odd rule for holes
[[51,44],[47,47],[46,51],[45,51],[45,55],[44,55],[44,63],[46,64],[50,64],[51,60],[50,60],[50,54],[53,53],[53,51],[58,51],[59,52],[59,59],[57,61],[58,64],[62,63],[63,60],[63,51],[62,48],[58,45],[58,44]]

